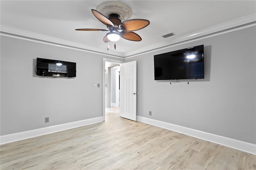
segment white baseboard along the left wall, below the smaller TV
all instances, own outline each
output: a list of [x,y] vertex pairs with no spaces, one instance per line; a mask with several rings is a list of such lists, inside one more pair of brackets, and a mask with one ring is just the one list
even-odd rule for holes
[[6,144],[6,143],[10,143],[10,142],[15,142],[18,140],[33,138],[33,137],[41,136],[44,134],[50,134],[50,133],[59,132],[62,130],[76,128],[76,127],[82,127],[85,125],[91,125],[91,124],[99,123],[99,122],[103,122],[103,121],[104,121],[103,117],[96,117],[96,118],[92,118],[92,119],[85,119],[82,121],[65,123],[65,124],[55,125],[55,126],[51,126],[51,127],[28,130],[28,131],[24,131],[24,132],[13,133],[13,134],[6,134],[6,135],[0,136],[0,144]]

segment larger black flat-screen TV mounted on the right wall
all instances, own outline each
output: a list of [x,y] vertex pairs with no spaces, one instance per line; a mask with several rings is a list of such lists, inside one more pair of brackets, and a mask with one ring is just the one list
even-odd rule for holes
[[204,79],[204,45],[154,55],[155,80]]

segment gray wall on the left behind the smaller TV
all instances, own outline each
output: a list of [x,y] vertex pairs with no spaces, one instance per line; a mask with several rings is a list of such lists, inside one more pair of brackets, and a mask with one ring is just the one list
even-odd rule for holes
[[[37,57],[76,62],[77,77],[39,77]],[[103,116],[103,57],[1,36],[1,135]]]

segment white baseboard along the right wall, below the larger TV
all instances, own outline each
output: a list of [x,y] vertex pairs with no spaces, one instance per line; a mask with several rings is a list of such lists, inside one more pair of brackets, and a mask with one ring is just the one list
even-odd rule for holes
[[182,126],[179,126],[179,125],[174,125],[174,124],[171,124],[171,123],[157,121],[157,120],[149,119],[149,118],[146,118],[146,117],[137,116],[137,121],[147,123],[149,125],[154,125],[156,127],[165,128],[165,129],[168,129],[168,130],[172,130],[172,131],[175,131],[175,132],[186,134],[188,136],[193,136],[195,138],[200,138],[202,140],[206,140],[206,141],[213,142],[213,143],[216,143],[216,144],[221,144],[223,146],[227,146],[227,147],[230,147],[230,148],[234,148],[234,149],[237,149],[237,150],[241,150],[243,152],[247,152],[247,153],[256,155],[256,144],[243,142],[243,141],[240,141],[240,140],[227,138],[227,137],[224,137],[224,136],[219,136],[219,135],[216,135],[216,134],[211,134],[211,133],[203,132],[203,131],[200,131],[200,130],[195,130],[195,129],[192,129],[192,128],[186,128],[186,127],[182,127]]

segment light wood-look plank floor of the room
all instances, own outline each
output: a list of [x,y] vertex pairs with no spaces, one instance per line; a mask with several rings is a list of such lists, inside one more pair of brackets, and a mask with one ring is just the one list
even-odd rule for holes
[[256,156],[106,113],[106,121],[1,145],[1,170],[252,170]]

